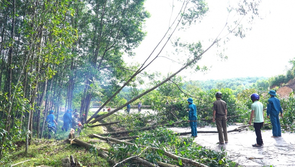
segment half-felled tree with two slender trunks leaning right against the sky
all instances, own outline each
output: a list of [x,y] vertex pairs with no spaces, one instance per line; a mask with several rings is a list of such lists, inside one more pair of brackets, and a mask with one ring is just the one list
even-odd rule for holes
[[[236,14],[234,14],[233,17],[229,19],[233,22],[226,22],[225,23],[221,32],[212,41],[211,45],[209,45],[207,47],[207,49],[203,49],[201,45],[198,45],[196,43],[192,43],[192,44],[179,43],[179,46],[180,47],[182,46],[182,49],[186,50],[189,53],[189,57],[187,58],[187,60],[183,64],[183,66],[178,71],[172,73],[166,79],[164,79],[160,83],[156,84],[152,88],[146,90],[142,94],[139,94],[138,96],[134,97],[133,99],[130,99],[127,103],[121,105],[120,107],[117,107],[113,111],[111,111],[101,117],[94,119],[96,117],[97,113],[104,106],[106,106],[115,96],[117,96],[117,94],[119,94],[119,92],[125,86],[127,86],[131,81],[133,81],[134,78],[138,74],[142,73],[142,71],[145,70],[145,68],[147,68],[151,63],[153,63],[153,61],[155,59],[157,59],[159,57],[163,48],[165,48],[166,44],[168,42],[170,42],[171,37],[176,30],[181,30],[183,28],[182,26],[184,26],[187,23],[190,24],[191,22],[196,22],[197,20],[202,19],[202,16],[207,12],[207,6],[203,5],[203,4],[204,4],[203,2],[199,3],[198,1],[187,1],[187,0],[183,1],[183,4],[180,7],[178,14],[176,14],[175,19],[171,19],[171,25],[169,24],[169,27],[168,27],[165,35],[160,40],[158,45],[156,45],[156,47],[151,52],[151,54],[148,56],[148,58],[144,61],[144,63],[142,63],[142,65],[136,70],[136,72],[108,100],[106,100],[103,105],[101,105],[101,107],[86,121],[86,123],[94,124],[94,123],[100,121],[101,119],[104,119],[104,118],[108,117],[109,115],[114,114],[115,112],[119,111],[123,107],[126,107],[128,104],[136,101],[137,99],[144,96],[145,94],[148,94],[149,92],[157,89],[159,86],[163,85],[167,81],[170,81],[171,78],[176,76],[182,70],[184,70],[188,67],[194,67],[196,65],[197,61],[202,58],[204,53],[206,53],[210,48],[212,48],[212,46],[219,45],[219,42],[222,39],[226,38],[227,35],[233,33],[235,36],[240,36],[241,38],[245,37],[245,34],[243,33],[244,30],[242,29],[242,26],[240,25],[240,24],[242,24],[242,22],[241,22],[242,19],[243,18],[247,19],[247,17],[249,16],[249,20],[247,21],[247,23],[252,23],[254,17],[258,16],[257,11],[258,11],[259,3],[256,3],[256,2],[247,3],[246,1],[242,1],[241,4],[237,5],[237,8],[234,8],[231,6],[231,8],[230,8],[230,10],[228,10],[228,12],[236,12]],[[190,16],[190,17],[187,17],[187,16]],[[238,17],[238,18],[236,18],[236,17]],[[225,35],[222,35],[222,32],[226,29],[229,30],[229,32],[226,33]],[[220,36],[222,36],[222,37],[220,37]],[[224,40],[224,42],[226,42],[226,41],[227,40]],[[162,44],[162,45],[160,45],[160,44]],[[161,47],[161,48],[158,48],[158,47]],[[159,49],[158,53],[154,53],[154,51],[157,49]],[[151,56],[153,56],[154,54],[155,54],[154,58],[151,58]],[[150,58],[152,60],[149,60]],[[86,117],[87,117],[87,114],[86,114]],[[92,120],[92,119],[94,119],[94,120]]]

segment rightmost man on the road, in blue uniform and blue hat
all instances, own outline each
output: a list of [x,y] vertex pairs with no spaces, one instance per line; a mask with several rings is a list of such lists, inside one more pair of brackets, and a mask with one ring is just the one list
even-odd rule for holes
[[271,137],[280,137],[281,134],[281,125],[280,118],[278,114],[281,113],[281,117],[283,117],[283,110],[280,104],[280,100],[276,98],[276,91],[271,90],[268,92],[271,96],[267,101],[266,114],[267,118],[271,118],[271,126],[273,127],[273,135]]

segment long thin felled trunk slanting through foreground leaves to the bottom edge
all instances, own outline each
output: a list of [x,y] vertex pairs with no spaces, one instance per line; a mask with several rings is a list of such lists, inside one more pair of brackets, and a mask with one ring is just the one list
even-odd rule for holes
[[[102,136],[99,136],[99,135],[96,135],[96,134],[93,134],[94,136],[96,136],[96,138],[99,138],[100,140],[106,140],[106,141],[111,141],[111,142],[115,142],[115,143],[124,143],[124,144],[127,144],[127,145],[135,145],[133,143],[129,143],[129,142],[123,142],[121,140],[117,140],[117,139],[113,139],[113,138],[109,138],[109,137],[102,137]],[[140,147],[148,147],[146,145],[137,145],[137,146],[140,146]],[[155,150],[155,151],[158,151],[158,150],[161,150],[160,148],[155,148],[155,147],[150,147],[152,150]],[[175,159],[175,160],[179,160],[181,159],[182,162],[184,163],[189,163],[193,166],[197,166],[197,167],[208,167],[202,163],[199,163],[197,161],[194,161],[192,159],[189,159],[189,158],[183,158],[183,157],[180,157],[180,156],[177,156],[177,155],[174,155],[172,153],[169,153],[165,150],[162,150],[164,152],[164,155],[172,158],[172,159]]]

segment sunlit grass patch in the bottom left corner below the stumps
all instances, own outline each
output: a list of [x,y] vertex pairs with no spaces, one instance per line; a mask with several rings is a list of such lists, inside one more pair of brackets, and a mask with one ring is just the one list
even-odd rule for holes
[[[99,146],[103,147],[103,145]],[[106,160],[98,157],[99,159],[96,162],[94,158],[91,158],[92,154],[87,149],[70,145],[65,141],[35,138],[31,140],[26,155],[24,154],[24,150],[25,145],[13,152],[11,157],[9,157],[12,163],[7,164],[7,166],[29,159],[31,160],[18,166],[62,166],[61,159],[73,155],[83,166],[109,167],[109,163]]]

